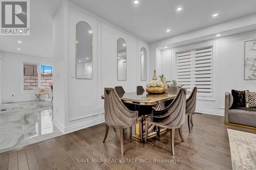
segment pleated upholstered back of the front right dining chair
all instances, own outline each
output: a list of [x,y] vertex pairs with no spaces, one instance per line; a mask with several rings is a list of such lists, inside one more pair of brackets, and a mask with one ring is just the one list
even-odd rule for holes
[[153,122],[171,127],[181,126],[185,122],[185,111],[185,89],[181,88],[169,106],[164,110],[153,111]]

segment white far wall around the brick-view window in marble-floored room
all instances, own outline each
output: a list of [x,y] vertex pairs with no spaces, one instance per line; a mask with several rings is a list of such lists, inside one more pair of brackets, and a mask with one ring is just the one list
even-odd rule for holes
[[[52,63],[51,58],[29,56],[18,53],[1,52],[2,56],[2,102],[22,102],[35,100],[34,94],[23,93],[21,89],[20,72],[23,71],[22,61],[36,63]],[[12,94],[14,95],[12,97]],[[42,96],[41,99],[48,99]]]

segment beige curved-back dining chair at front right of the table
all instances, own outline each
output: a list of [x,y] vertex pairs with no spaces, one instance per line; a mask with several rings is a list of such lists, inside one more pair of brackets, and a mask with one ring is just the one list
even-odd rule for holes
[[152,111],[152,121],[145,120],[145,143],[147,142],[147,133],[149,124],[171,129],[170,143],[172,154],[174,153],[174,133],[175,129],[179,129],[180,138],[184,141],[182,136],[182,125],[185,122],[186,111],[186,96],[185,89],[180,89],[173,100],[173,102],[163,110]]

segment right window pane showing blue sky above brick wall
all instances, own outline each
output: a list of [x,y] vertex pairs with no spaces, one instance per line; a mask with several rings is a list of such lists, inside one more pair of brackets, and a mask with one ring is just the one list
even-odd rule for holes
[[51,89],[52,85],[52,66],[41,65],[41,87]]

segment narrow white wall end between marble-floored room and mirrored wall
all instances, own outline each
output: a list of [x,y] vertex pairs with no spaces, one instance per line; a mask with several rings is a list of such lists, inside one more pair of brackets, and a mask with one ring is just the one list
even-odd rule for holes
[[53,17],[53,123],[63,131],[68,116],[68,4]]

